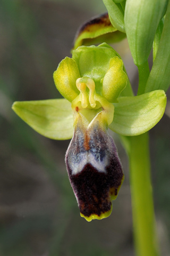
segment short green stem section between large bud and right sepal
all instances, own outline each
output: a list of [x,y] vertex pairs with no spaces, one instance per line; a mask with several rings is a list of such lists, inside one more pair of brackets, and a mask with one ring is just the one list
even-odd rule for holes
[[139,72],[138,95],[140,95],[145,93],[145,87],[146,87],[149,73],[150,73],[148,61],[138,66],[138,72]]

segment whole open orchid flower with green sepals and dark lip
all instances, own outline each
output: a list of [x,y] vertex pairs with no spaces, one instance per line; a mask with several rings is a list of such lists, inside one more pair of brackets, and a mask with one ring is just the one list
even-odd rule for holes
[[13,110],[51,139],[70,139],[65,162],[71,186],[86,220],[112,211],[124,175],[108,128],[139,135],[162,118],[164,91],[133,96],[123,61],[106,43],[80,46],[54,73],[65,99],[14,102]]

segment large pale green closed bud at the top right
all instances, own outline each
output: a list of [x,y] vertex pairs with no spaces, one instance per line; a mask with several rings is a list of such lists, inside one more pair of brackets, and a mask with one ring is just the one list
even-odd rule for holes
[[140,66],[149,57],[156,29],[167,0],[127,0],[125,30],[135,65]]

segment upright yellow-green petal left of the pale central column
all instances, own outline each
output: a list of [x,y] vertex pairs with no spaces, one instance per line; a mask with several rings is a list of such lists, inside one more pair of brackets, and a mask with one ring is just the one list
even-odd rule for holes
[[66,57],[54,72],[54,82],[63,97],[72,102],[79,94],[75,81],[80,77],[77,63]]

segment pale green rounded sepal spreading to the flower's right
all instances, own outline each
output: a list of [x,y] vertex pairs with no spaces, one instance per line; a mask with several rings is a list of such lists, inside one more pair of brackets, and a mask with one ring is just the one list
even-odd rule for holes
[[135,97],[121,97],[114,106],[114,118],[109,128],[121,135],[140,135],[149,131],[162,118],[166,95],[164,91],[157,90]]

